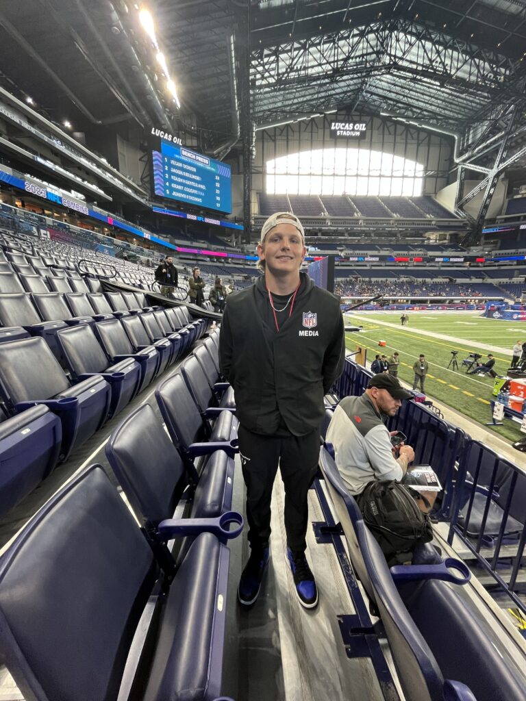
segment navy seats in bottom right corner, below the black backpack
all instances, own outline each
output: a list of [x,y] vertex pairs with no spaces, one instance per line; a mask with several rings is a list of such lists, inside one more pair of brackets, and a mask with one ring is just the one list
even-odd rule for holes
[[443,559],[427,543],[417,547],[412,564],[389,568],[339,475],[330,443],[323,444],[320,467],[353,568],[372,611],[382,619],[405,699],[526,698],[517,660],[505,658],[495,646],[490,624],[481,620],[463,591],[471,578],[466,564]]

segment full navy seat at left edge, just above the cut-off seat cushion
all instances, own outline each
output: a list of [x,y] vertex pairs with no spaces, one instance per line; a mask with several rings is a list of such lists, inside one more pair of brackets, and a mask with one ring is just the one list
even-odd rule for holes
[[111,389],[101,375],[70,385],[46,341],[35,337],[0,343],[0,395],[11,416],[34,404],[57,414],[65,460],[106,421]]

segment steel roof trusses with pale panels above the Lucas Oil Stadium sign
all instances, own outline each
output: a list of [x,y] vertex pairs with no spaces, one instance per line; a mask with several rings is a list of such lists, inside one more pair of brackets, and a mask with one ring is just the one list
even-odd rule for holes
[[257,125],[338,109],[396,112],[460,130],[492,104],[514,62],[403,18],[251,53]]

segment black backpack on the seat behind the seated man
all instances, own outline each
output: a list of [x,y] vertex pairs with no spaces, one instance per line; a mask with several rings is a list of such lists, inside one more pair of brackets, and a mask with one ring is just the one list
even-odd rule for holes
[[375,536],[388,564],[405,562],[419,543],[433,540],[433,528],[412,496],[412,489],[381,479],[369,482],[357,497],[363,520]]

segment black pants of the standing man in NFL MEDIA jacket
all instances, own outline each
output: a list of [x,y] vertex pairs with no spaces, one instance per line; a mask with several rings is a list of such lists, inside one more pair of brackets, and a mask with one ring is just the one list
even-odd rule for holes
[[285,531],[290,550],[303,552],[309,508],[307,494],[318,470],[320,431],[304,436],[266,436],[238,429],[247,487],[248,542],[259,550],[270,538],[272,486],[278,471],[285,486]]

